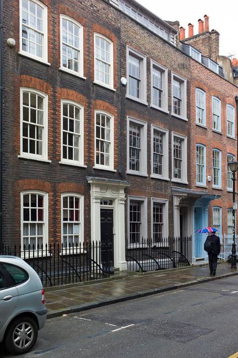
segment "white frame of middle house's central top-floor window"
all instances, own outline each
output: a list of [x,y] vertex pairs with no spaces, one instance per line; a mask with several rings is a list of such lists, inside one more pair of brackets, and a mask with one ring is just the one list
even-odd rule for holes
[[[161,107],[156,106],[153,103],[153,69],[156,68],[161,72],[162,78],[162,96],[161,96]],[[168,68],[160,65],[158,62],[151,60],[151,107],[161,110],[165,113],[169,113],[168,111]]]

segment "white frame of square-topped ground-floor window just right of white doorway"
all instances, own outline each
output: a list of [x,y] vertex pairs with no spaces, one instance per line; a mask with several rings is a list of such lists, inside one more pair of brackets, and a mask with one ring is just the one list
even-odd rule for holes
[[[140,242],[131,243],[130,241],[130,203],[131,201],[141,202],[141,232],[140,232]],[[128,247],[140,247],[142,246],[142,237],[143,240],[147,240],[147,197],[137,197],[137,196],[128,196]],[[145,246],[145,243],[143,244]]]

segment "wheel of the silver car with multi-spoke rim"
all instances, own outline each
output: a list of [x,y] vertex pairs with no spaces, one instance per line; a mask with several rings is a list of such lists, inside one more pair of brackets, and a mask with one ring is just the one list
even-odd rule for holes
[[27,353],[36,343],[37,336],[38,328],[34,319],[19,317],[8,328],[5,345],[10,353]]

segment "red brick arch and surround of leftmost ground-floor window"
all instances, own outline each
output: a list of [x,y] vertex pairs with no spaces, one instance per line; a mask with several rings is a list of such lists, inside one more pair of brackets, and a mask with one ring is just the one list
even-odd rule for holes
[[15,187],[15,218],[16,218],[16,243],[21,242],[21,193],[25,191],[39,191],[48,193],[48,241],[53,241],[53,187],[52,184],[40,179],[22,179],[16,183]]

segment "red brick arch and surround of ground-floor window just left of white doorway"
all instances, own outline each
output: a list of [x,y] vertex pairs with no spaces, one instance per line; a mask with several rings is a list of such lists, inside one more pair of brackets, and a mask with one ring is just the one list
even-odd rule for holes
[[[61,243],[61,194],[67,193],[75,193],[80,196],[84,196],[85,194],[85,187],[83,184],[77,183],[60,183],[57,186],[57,195],[56,195],[56,240],[57,242]],[[89,203],[88,203],[89,204]],[[87,205],[89,207],[89,205]],[[82,218],[84,218],[84,213],[82,214]],[[85,228],[84,220],[84,228]]]

